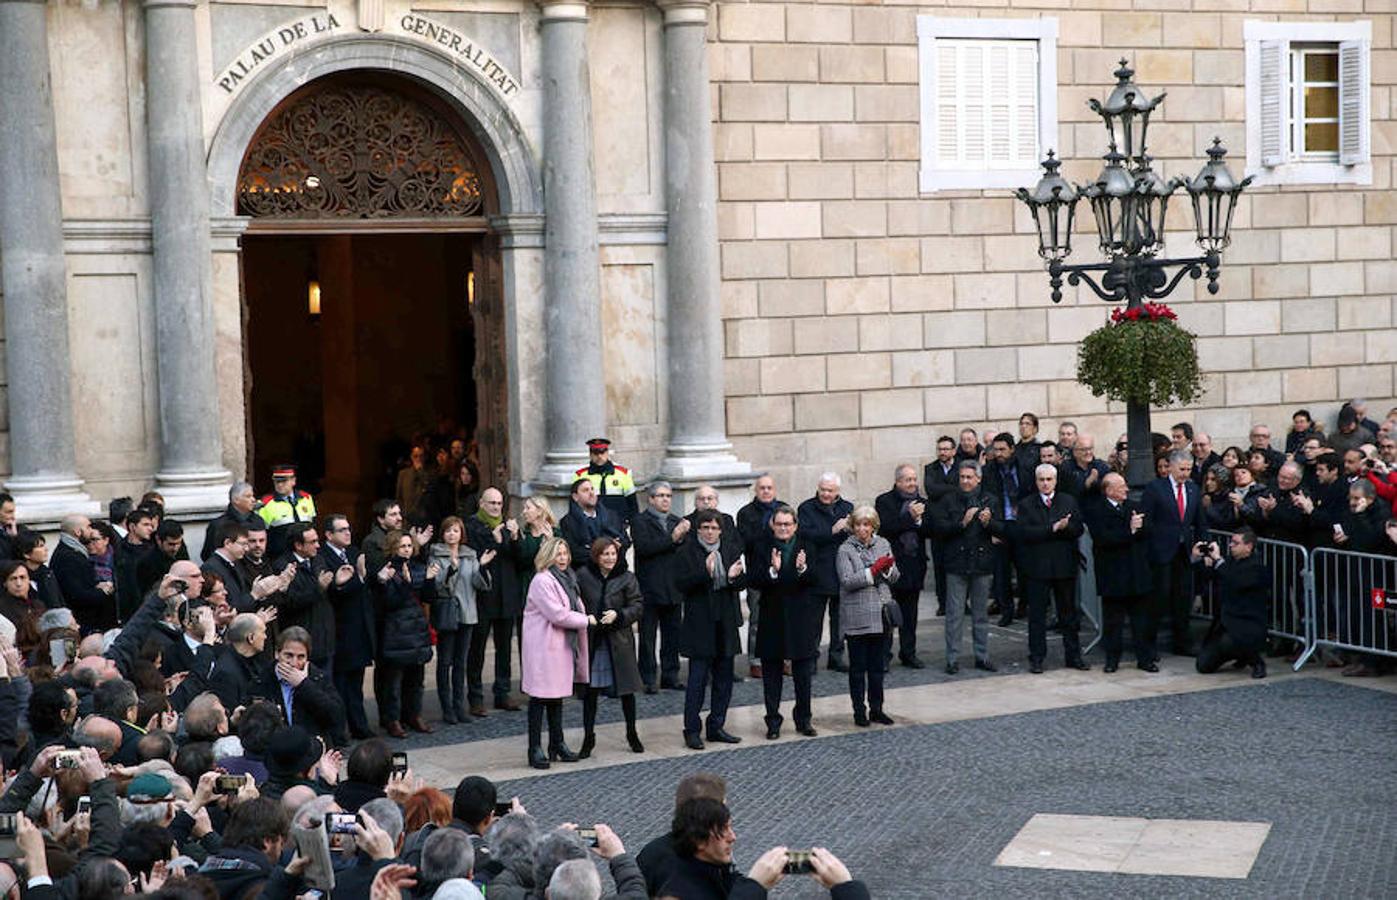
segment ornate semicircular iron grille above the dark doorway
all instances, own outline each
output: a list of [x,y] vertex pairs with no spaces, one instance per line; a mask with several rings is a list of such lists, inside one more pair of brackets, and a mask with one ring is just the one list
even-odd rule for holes
[[237,179],[239,212],[275,218],[481,215],[481,179],[441,116],[379,87],[313,91],[253,140]]

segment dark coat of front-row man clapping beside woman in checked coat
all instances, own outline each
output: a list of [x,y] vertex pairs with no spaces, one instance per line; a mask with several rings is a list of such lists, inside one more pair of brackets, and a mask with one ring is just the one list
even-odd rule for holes
[[[756,541],[747,555],[747,584],[761,591],[757,620],[757,657],[761,660],[810,660],[820,655],[820,627],[824,625],[824,600],[814,587],[814,549],[799,531],[795,549],[775,576],[771,552],[775,537]],[[805,551],[805,572],[796,558]]]

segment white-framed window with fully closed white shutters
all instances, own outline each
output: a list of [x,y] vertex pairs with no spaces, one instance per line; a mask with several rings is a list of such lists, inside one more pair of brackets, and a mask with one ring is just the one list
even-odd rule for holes
[[916,17],[922,193],[1021,187],[1058,145],[1058,20]]

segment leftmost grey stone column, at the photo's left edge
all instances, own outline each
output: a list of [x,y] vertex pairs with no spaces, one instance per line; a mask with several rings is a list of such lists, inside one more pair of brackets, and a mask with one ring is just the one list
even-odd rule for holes
[[0,289],[10,478],[28,524],[95,513],[73,435],[68,295],[43,0],[0,0]]

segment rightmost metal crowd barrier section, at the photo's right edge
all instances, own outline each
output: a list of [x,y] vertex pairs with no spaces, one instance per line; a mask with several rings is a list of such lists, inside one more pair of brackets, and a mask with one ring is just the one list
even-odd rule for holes
[[1331,548],[1310,559],[1313,637],[1295,668],[1320,647],[1397,657],[1397,559]]

